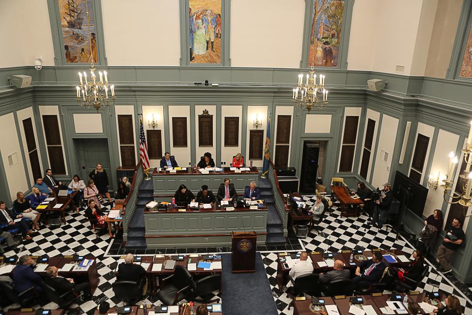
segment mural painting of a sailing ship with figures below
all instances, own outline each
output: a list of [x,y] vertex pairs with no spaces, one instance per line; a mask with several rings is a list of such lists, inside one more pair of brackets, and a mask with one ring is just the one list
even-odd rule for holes
[[93,0],[57,1],[65,63],[98,63]]

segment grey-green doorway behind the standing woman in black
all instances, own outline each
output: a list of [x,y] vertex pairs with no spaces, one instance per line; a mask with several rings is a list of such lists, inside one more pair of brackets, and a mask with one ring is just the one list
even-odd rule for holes
[[113,187],[108,139],[73,139],[73,141],[74,156],[80,169],[77,175],[79,175],[87,185],[87,182],[89,181],[89,173],[96,168],[97,163],[100,163],[102,164],[103,169],[107,172],[108,183]]

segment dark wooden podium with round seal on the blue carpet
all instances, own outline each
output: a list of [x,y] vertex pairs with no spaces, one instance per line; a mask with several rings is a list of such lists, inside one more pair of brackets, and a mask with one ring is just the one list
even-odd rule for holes
[[231,269],[233,273],[256,272],[257,233],[231,232]]

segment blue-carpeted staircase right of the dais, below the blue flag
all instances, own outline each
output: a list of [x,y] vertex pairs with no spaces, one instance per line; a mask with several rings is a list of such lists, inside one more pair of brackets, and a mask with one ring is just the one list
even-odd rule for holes
[[284,228],[282,220],[275,208],[275,199],[272,192],[272,186],[266,178],[259,176],[258,188],[261,192],[261,199],[266,202],[268,211],[267,211],[267,237],[266,245],[284,245]]

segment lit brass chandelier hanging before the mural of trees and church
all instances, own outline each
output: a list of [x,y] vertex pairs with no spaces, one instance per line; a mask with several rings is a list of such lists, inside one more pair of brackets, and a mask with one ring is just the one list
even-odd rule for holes
[[[315,41],[316,43],[316,41]],[[298,74],[298,82],[295,89],[293,89],[292,102],[295,107],[306,109],[308,113],[313,110],[315,106],[319,109],[324,109],[328,103],[328,90],[324,88],[323,74],[319,76],[319,82],[316,83],[315,74],[315,43],[313,43],[313,55],[311,60],[311,71],[306,75],[305,84],[303,84],[303,74]],[[322,98],[323,96],[323,98]]]

